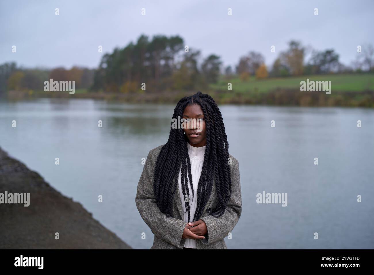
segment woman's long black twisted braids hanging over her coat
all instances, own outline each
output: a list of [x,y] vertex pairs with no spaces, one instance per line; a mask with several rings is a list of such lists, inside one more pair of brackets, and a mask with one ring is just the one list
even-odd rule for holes
[[[175,106],[173,119],[183,116],[187,105],[199,104],[205,117],[206,147],[203,167],[197,186],[197,203],[193,221],[199,220],[212,191],[213,180],[218,195],[218,202],[211,215],[220,217],[226,210],[227,201],[231,195],[231,176],[229,160],[229,143],[223,123],[221,111],[213,98],[207,94],[197,92],[193,96],[184,97]],[[188,139],[180,127],[170,127],[167,143],[157,157],[154,169],[154,194],[157,206],[166,216],[172,215],[172,202],[178,190],[178,176],[181,172],[183,196],[190,197],[188,182],[193,194],[191,163],[187,149]],[[188,179],[187,179],[188,174]],[[193,200],[194,198],[192,198]],[[185,202],[190,221],[190,198]]]

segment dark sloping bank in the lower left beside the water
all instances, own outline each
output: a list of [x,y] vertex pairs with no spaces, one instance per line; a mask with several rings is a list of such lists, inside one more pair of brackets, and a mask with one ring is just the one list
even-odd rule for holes
[[0,249],[132,249],[0,148],[0,193],[5,191],[30,193],[30,206],[0,204]]

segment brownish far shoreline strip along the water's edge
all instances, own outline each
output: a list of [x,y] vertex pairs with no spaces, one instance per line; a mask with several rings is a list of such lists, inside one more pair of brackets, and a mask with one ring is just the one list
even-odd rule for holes
[[[182,97],[195,91],[165,91],[143,93],[82,92],[70,95],[69,92],[9,91],[4,97],[8,101],[34,100],[37,98],[82,98],[105,100],[120,103],[175,104]],[[205,91],[217,104],[260,105],[260,106],[299,106],[299,107],[365,107],[374,108],[374,91],[338,92],[330,95],[324,92],[301,92],[295,89],[275,89],[270,92]]]

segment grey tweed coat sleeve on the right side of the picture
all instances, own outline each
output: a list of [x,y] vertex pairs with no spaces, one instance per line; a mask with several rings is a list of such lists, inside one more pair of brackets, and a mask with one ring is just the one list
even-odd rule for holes
[[205,239],[201,239],[202,244],[212,244],[213,242],[224,239],[229,232],[232,232],[234,226],[242,213],[242,193],[240,189],[239,162],[233,158],[231,166],[231,197],[226,205],[226,210],[221,217],[212,215],[202,217],[208,228]]

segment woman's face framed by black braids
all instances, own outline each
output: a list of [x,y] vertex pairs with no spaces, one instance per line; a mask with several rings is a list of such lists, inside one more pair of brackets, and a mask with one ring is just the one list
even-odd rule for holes
[[206,145],[205,117],[199,104],[188,105],[182,118],[189,119],[184,122],[183,131],[186,133],[188,143],[194,147]]

